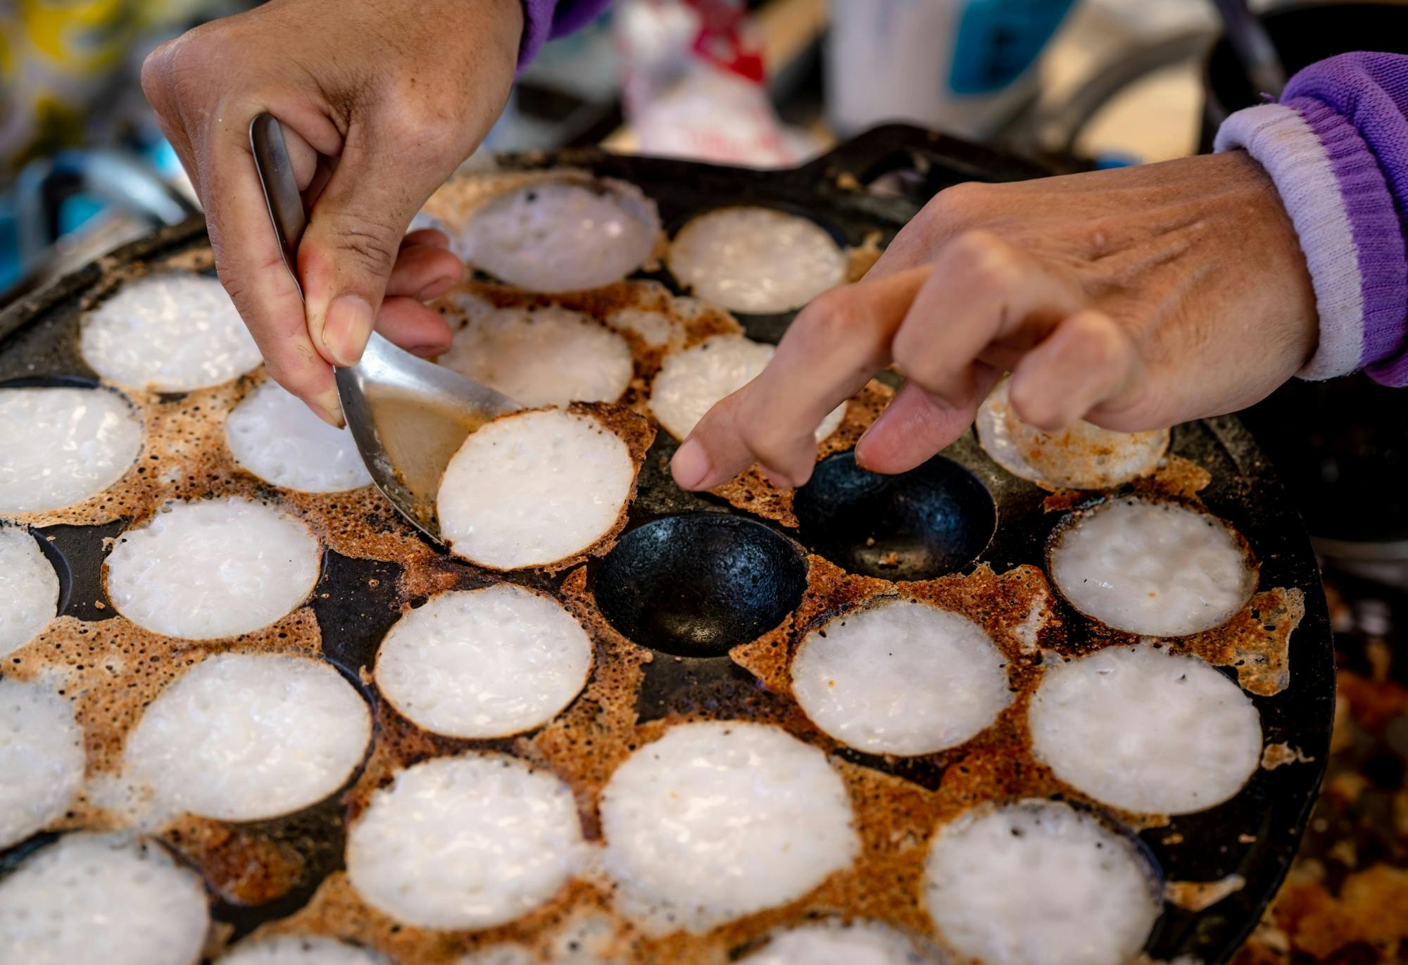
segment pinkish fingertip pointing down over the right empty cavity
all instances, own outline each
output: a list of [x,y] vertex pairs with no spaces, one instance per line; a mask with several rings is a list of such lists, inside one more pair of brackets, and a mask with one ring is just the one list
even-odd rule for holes
[[972,392],[959,405],[905,383],[856,442],[856,464],[872,473],[907,473],[946,449],[973,425],[977,407],[1001,378],[1001,371],[974,363]]

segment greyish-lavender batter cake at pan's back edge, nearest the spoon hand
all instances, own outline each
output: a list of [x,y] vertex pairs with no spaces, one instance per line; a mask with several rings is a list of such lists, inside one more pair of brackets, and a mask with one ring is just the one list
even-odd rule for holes
[[580,291],[641,267],[659,229],[655,203],[632,184],[548,180],[476,208],[458,250],[520,288]]

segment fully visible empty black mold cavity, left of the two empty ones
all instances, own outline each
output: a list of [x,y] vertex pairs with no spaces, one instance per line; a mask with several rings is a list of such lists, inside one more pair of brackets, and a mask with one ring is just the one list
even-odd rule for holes
[[691,512],[625,533],[593,588],[603,615],[635,643],[708,657],[781,623],[807,589],[807,560],[763,523]]

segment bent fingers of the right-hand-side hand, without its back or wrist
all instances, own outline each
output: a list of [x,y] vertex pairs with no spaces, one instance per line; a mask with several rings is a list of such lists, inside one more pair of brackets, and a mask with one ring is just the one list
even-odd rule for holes
[[1139,364],[1126,333],[1081,305],[1066,276],[995,235],[963,232],[929,267],[870,277],[808,305],[767,369],[680,446],[676,482],[714,488],[758,463],[774,484],[801,485],[821,418],[891,357],[908,384],[857,443],[866,468],[905,471],[952,443],[1007,367],[1019,416],[1069,425],[1125,391]]

